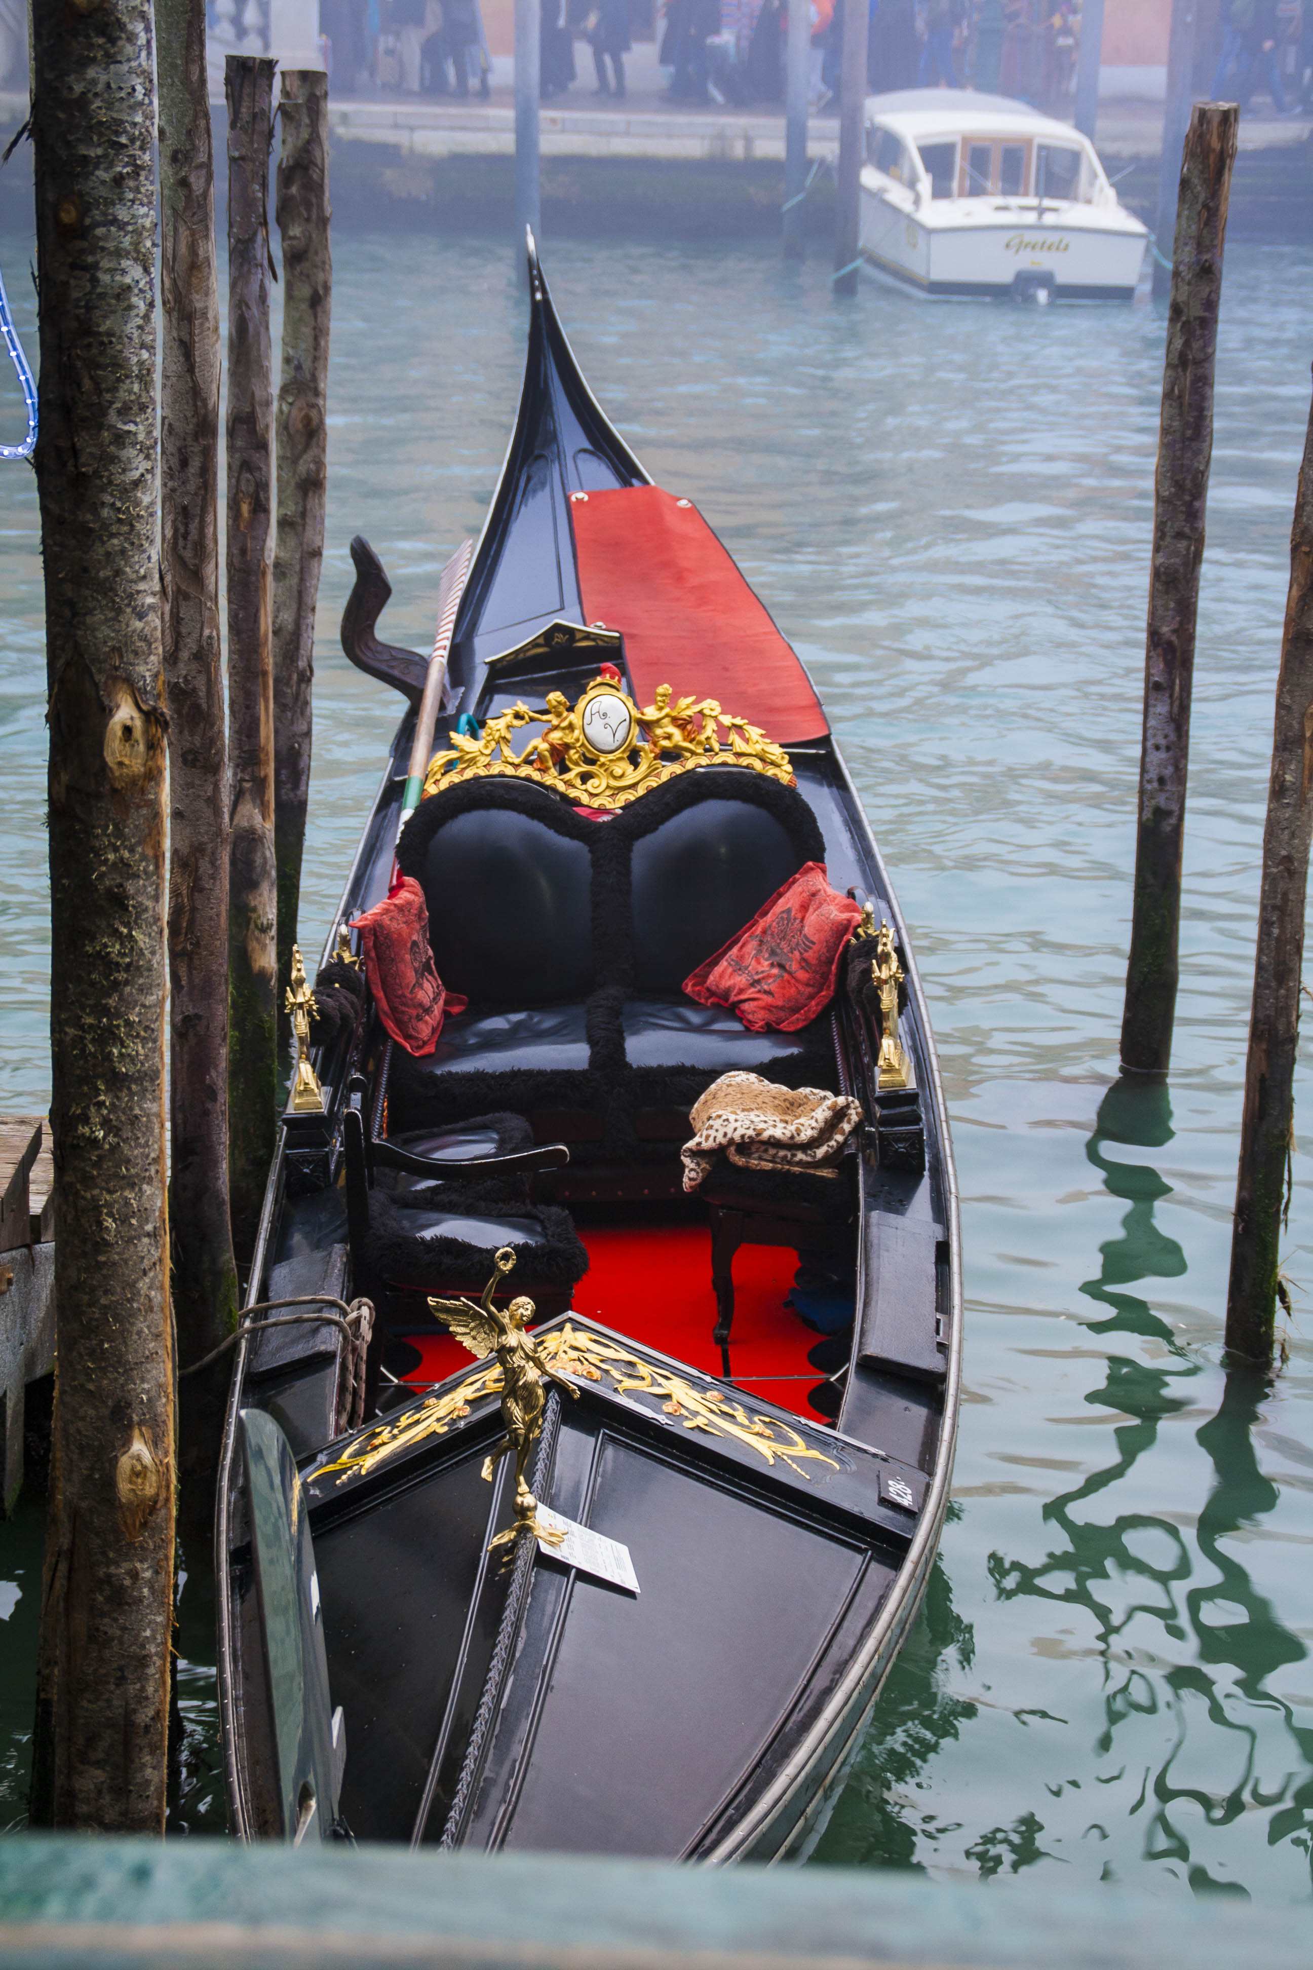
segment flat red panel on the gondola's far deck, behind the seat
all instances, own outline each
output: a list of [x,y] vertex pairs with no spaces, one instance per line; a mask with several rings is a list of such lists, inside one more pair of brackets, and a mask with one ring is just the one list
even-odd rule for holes
[[661,487],[573,494],[585,621],[624,636],[640,705],[715,697],[776,745],[829,733],[807,672],[697,506]]

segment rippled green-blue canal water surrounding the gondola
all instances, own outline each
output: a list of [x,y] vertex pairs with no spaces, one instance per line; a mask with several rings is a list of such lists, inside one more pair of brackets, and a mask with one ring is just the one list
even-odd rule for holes
[[[10,292],[31,299],[22,242]],[[1309,1897],[1313,1062],[1274,1379],[1220,1367],[1272,693],[1313,250],[1226,258],[1165,1089],[1116,1082],[1163,321],[1148,305],[837,305],[774,250],[545,250],[602,406],[697,500],[827,701],[925,975],[963,1188],[967,1391],[925,1611],[813,1860]],[[346,542],[427,648],[520,384],[500,242],[335,244],[329,546],[305,883],[317,944],[398,701],[337,648]],[[2,400],[18,429],[16,396]],[[0,475],[0,1107],[47,1099],[35,498]],[[0,1529],[0,1822],[39,1586]],[[787,1596],[789,1582],[780,1580]],[[189,1765],[220,1822],[183,1594]]]

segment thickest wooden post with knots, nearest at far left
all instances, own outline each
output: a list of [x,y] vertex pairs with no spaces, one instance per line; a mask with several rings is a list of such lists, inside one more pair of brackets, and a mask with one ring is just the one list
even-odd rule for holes
[[150,0],[31,16],[59,1391],[35,1824],[163,1832],[173,1615]]

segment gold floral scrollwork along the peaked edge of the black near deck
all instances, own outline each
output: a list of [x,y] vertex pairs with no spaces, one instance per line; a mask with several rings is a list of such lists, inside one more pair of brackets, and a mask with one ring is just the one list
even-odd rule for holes
[[[469,1300],[443,1304],[470,1306]],[[600,1381],[606,1375],[616,1395],[652,1395],[661,1403],[667,1416],[679,1416],[685,1430],[703,1430],[707,1436],[730,1438],[756,1452],[766,1464],[774,1464],[776,1460],[787,1464],[799,1478],[807,1476],[799,1468],[803,1462],[829,1464],[831,1470],[839,1470],[835,1458],[827,1458],[823,1450],[813,1450],[791,1424],[782,1422],[778,1416],[758,1416],[744,1409],[742,1403],[732,1403],[719,1387],[699,1389],[687,1377],[644,1361],[618,1342],[606,1340],[600,1334],[589,1334],[587,1328],[575,1328],[565,1322],[565,1326],[553,1328],[551,1334],[543,1334],[539,1342],[531,1342],[530,1346],[535,1347],[537,1359],[551,1373],[553,1381],[559,1381],[561,1375]],[[398,1456],[398,1452],[413,1450],[429,1436],[445,1436],[453,1422],[469,1416],[472,1403],[488,1395],[500,1395],[502,1387],[500,1365],[470,1369],[455,1389],[431,1395],[417,1409],[407,1409],[400,1414],[396,1422],[364,1430],[333,1464],[323,1464],[311,1476],[319,1481],[337,1472],[339,1483],[344,1483],[346,1478],[366,1478],[378,1464]],[[506,1434],[510,1436],[510,1428]],[[518,1529],[516,1525],[510,1535],[500,1537],[514,1539]]]

